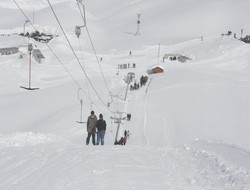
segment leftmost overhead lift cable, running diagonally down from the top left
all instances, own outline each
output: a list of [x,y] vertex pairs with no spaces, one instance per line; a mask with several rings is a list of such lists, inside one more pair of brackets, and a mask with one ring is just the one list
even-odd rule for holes
[[[19,4],[16,2],[16,0],[13,0],[14,3],[16,4],[16,6],[18,7],[18,9],[21,11],[21,13],[23,14],[23,16],[30,21],[30,19],[27,17],[27,15],[24,13],[24,11],[22,10],[22,8],[19,6]],[[32,26],[32,28],[37,31],[36,27],[30,22],[30,25]],[[71,79],[73,80],[73,82],[76,84],[76,86],[81,89],[81,91],[85,94],[85,96],[90,100],[91,103],[93,103],[96,108],[103,112],[102,109],[97,105],[95,104],[92,99],[89,97],[88,94],[86,94],[86,92],[84,90],[82,90],[82,87],[81,85],[77,82],[77,80],[73,77],[73,75],[69,72],[69,70],[65,67],[65,65],[62,63],[62,61],[59,59],[59,57],[56,55],[56,53],[52,50],[52,48],[47,44],[45,43],[45,45],[48,47],[48,49],[52,52],[52,54],[56,57],[56,59],[58,60],[58,62],[62,65],[62,67],[64,68],[64,70],[68,73],[68,75],[71,77]]]

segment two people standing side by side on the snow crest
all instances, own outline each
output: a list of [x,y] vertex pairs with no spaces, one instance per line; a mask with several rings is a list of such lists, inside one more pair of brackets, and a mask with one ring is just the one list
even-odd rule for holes
[[[91,111],[90,116],[87,120],[87,132],[88,136],[86,139],[86,145],[89,144],[90,137],[92,137],[93,145],[104,145],[104,136],[106,132],[106,121],[103,119],[103,115],[99,115],[99,119],[97,119],[95,112]],[[97,132],[97,142],[95,141],[95,134]]]

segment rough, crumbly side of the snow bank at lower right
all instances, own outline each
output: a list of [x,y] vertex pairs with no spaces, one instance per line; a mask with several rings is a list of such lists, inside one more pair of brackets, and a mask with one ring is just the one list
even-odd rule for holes
[[[219,171],[224,174],[228,181],[228,186],[235,187],[241,184],[247,184],[250,182],[249,172],[243,167],[237,167],[233,163],[230,163],[223,159],[221,156],[206,151],[190,148],[185,145],[185,150],[194,156],[199,156],[212,163]],[[241,189],[245,189],[244,186]]]

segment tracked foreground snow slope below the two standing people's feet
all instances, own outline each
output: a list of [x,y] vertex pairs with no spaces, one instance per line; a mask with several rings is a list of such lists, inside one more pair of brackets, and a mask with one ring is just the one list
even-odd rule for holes
[[[111,163],[108,162],[108,155],[112,149],[116,151],[117,159]],[[127,157],[131,150],[136,151],[134,156]],[[22,156],[17,158],[15,153]],[[5,154],[9,156],[4,157]],[[235,167],[219,155],[196,149],[192,145],[158,150],[150,146],[90,150],[60,143],[51,144],[50,148],[44,145],[3,148],[0,155],[0,174],[5,176],[0,179],[0,187],[10,189],[25,189],[27,186],[43,189],[43,181],[48,184],[48,189],[72,189],[84,186],[86,181],[92,180],[93,184],[88,183],[86,188],[105,189],[113,184],[118,189],[186,187],[233,190],[244,189],[244,184],[250,181],[249,173],[244,168]],[[97,155],[100,156],[96,157]],[[126,159],[121,159],[124,156]],[[143,159],[145,156],[150,159]],[[104,165],[96,167],[97,162]],[[131,162],[136,164],[131,166]],[[129,175],[123,176],[124,172]],[[157,180],[153,176],[157,176]],[[95,180],[103,180],[104,183],[96,187]]]

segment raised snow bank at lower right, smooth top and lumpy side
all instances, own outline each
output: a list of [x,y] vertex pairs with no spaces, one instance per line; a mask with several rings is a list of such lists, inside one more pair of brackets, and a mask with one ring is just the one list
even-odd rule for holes
[[195,140],[191,145],[184,147],[187,152],[200,157],[204,162],[209,162],[214,169],[221,172],[220,177],[227,181],[226,186],[234,187],[249,183],[250,164],[247,161],[250,158],[249,151],[222,142],[200,140]]

